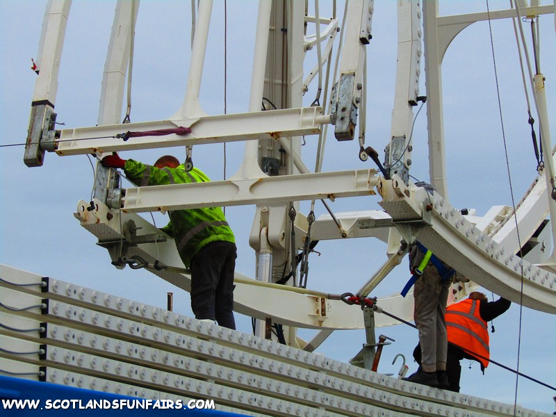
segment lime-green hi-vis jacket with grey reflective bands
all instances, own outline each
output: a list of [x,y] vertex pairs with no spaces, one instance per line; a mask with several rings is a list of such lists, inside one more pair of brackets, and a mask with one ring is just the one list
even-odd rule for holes
[[[126,177],[140,187],[211,181],[197,168],[190,172],[186,172],[183,165],[159,169],[133,159],[126,161],[124,171]],[[169,214],[170,223],[163,227],[163,231],[174,238],[179,256],[187,268],[193,256],[208,243],[220,240],[236,243],[234,232],[220,207],[190,208],[170,211]]]

